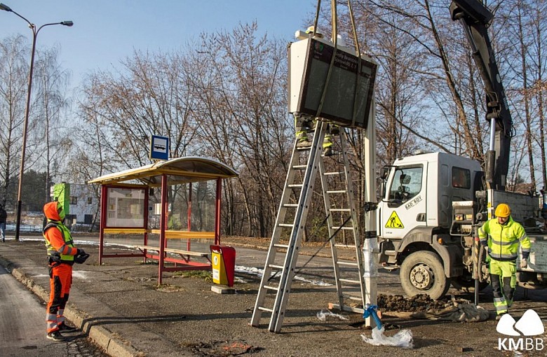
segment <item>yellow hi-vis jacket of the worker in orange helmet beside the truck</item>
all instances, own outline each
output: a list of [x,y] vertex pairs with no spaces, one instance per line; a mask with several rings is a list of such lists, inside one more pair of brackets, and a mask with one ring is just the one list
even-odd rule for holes
[[486,221],[479,228],[479,239],[480,244],[488,246],[488,255],[495,260],[516,260],[519,244],[523,259],[527,259],[530,253],[530,239],[522,225],[513,221],[511,216],[504,225],[499,224],[497,218]]

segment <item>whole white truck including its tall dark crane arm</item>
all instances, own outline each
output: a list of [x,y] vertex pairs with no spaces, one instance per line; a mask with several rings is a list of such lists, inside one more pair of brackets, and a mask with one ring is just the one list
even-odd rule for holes
[[536,226],[542,215],[539,197],[505,190],[512,120],[487,34],[492,13],[476,0],[453,0],[450,11],[464,26],[485,83],[491,125],[485,169],[450,153],[418,153],[384,167],[377,206],[379,262],[386,269],[400,268],[410,296],[427,293],[437,299],[451,283],[478,291],[487,285],[487,269],[477,230],[505,202],[532,240],[528,268],[518,271],[518,281],[527,288],[547,287],[547,237]]

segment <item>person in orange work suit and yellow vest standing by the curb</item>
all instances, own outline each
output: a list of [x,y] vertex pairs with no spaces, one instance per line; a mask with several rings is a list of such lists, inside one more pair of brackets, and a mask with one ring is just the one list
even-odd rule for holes
[[70,286],[72,285],[72,265],[74,262],[85,262],[89,257],[82,249],[74,246],[72,235],[62,223],[65,210],[59,202],[49,202],[43,206],[47,224],[43,228],[46,239],[49,263],[50,295],[46,320],[48,339],[64,341],[60,331],[74,331],[76,328],[65,323],[65,306],[67,305]]

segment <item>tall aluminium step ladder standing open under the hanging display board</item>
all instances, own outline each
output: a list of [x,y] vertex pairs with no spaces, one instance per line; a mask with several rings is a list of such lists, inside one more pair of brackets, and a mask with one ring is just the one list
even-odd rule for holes
[[[357,299],[357,297],[352,297],[349,294],[343,293],[342,289],[344,284],[353,283],[359,281],[358,286],[360,286],[360,300],[363,303],[364,295],[364,283],[363,283],[363,268],[360,262],[359,250],[360,244],[357,241],[358,232],[356,231],[356,226],[353,225],[356,222],[356,210],[353,207],[353,200],[351,200],[351,195],[353,195],[353,190],[351,190],[351,182],[349,181],[349,163],[347,160],[346,151],[343,144],[342,134],[339,135],[339,138],[342,141],[342,153],[344,154],[344,177],[346,188],[344,190],[328,190],[327,176],[332,176],[334,173],[325,172],[325,166],[323,164],[323,158],[321,156],[321,148],[323,144],[323,139],[325,137],[325,132],[327,131],[327,123],[318,120],[316,125],[315,133],[313,134],[312,145],[309,148],[298,148],[297,141],[295,141],[295,146],[292,151],[292,156],[290,160],[290,166],[287,174],[287,179],[285,181],[285,187],[283,189],[283,195],[281,197],[281,204],[278,210],[278,216],[276,218],[276,224],[274,226],[274,232],[271,237],[270,247],[268,255],[266,256],[266,264],[264,266],[264,272],[262,274],[262,279],[258,288],[257,300],[255,303],[255,309],[252,313],[251,325],[258,326],[262,312],[266,311],[271,314],[269,330],[271,332],[280,332],[281,326],[283,325],[283,318],[285,316],[285,309],[288,303],[288,297],[290,293],[290,288],[292,284],[292,279],[295,276],[295,267],[298,258],[298,252],[300,244],[302,242],[302,235],[304,233],[304,227],[306,225],[306,218],[309,211],[309,205],[311,202],[311,196],[313,193],[313,185],[316,180],[316,173],[321,172],[321,183],[323,186],[323,197],[325,198],[325,207],[327,208],[327,214],[332,214],[334,212],[345,212],[346,214],[351,214],[349,218],[346,218],[346,222],[341,227],[337,228],[334,225],[332,217],[329,217],[329,232],[332,238],[333,234],[336,234],[340,230],[349,230],[353,231],[353,240],[357,251],[357,262],[343,262],[337,258],[337,245],[335,242],[330,239],[331,249],[332,249],[332,258],[335,265],[335,277],[337,280],[337,291],[339,296],[339,304],[335,305],[339,309],[344,309],[346,311],[356,311],[354,309],[349,309],[345,307],[344,299]],[[306,164],[302,165],[300,155],[301,153],[306,153]],[[303,177],[302,177],[303,173]],[[339,174],[339,172],[336,172]],[[302,179],[299,179],[302,177]],[[330,207],[330,200],[327,198],[329,195],[339,195],[341,192],[346,193],[349,200],[349,208],[346,209],[337,209]],[[297,197],[292,198],[292,195]],[[327,204],[328,202],[328,204]],[[350,224],[349,221],[351,221]],[[290,235],[288,233],[290,232]],[[280,240],[282,235],[289,237],[288,244],[281,244]],[[277,255],[280,255],[278,257]],[[281,262],[283,260],[283,262]],[[359,277],[353,279],[342,278],[340,271],[342,270],[340,266],[349,266],[356,269]],[[361,310],[363,311],[363,310]]]

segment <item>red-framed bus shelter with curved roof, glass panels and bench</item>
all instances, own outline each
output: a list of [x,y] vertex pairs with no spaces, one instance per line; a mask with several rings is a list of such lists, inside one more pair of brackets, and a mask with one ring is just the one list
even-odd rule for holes
[[[222,162],[185,157],[89,181],[101,185],[99,264],[104,258],[158,260],[159,284],[163,272],[210,269],[210,251],[192,250],[191,240],[210,239],[220,246],[222,179],[236,176]],[[119,237],[130,237],[123,239],[129,252],[108,252],[106,237],[118,243]]]

